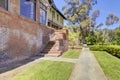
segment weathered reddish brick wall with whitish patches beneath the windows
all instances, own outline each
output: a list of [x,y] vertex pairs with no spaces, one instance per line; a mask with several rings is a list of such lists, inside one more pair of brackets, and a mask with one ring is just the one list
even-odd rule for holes
[[25,59],[39,53],[54,33],[53,29],[38,21],[20,16],[19,0],[10,2],[9,11],[0,8],[0,63],[7,59]]

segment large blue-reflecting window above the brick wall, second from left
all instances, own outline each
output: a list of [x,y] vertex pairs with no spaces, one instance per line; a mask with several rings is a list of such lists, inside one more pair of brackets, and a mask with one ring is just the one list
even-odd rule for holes
[[36,19],[36,0],[20,0],[20,15]]

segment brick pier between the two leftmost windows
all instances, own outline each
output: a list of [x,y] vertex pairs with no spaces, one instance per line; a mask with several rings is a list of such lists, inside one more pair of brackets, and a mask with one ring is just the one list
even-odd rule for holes
[[8,0],[9,11],[12,14],[20,14],[20,1],[19,0]]

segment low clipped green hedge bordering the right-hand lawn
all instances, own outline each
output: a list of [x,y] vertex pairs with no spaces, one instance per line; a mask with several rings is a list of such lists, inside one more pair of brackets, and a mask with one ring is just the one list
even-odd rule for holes
[[92,51],[106,51],[113,56],[120,58],[120,46],[116,45],[93,45],[89,46]]

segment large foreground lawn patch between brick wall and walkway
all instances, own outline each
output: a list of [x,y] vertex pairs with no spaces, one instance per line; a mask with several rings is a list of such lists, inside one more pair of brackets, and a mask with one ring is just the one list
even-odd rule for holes
[[72,63],[42,61],[17,74],[12,80],[68,80]]

